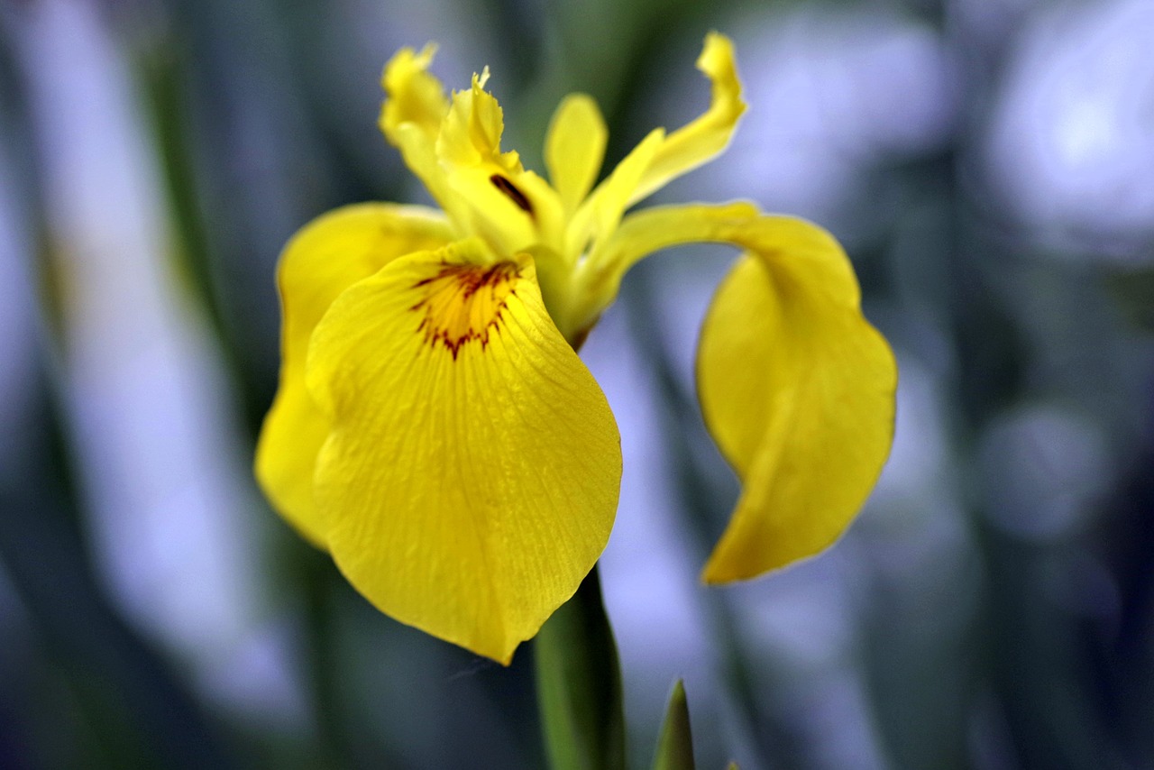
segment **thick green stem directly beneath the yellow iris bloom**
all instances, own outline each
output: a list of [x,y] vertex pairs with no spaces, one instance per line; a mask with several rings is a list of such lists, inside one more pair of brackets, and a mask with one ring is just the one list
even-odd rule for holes
[[623,770],[621,666],[597,567],[541,627],[537,700],[553,770]]

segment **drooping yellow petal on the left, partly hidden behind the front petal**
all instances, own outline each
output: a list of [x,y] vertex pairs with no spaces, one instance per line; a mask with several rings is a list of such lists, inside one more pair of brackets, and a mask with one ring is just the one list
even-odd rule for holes
[[314,219],[280,255],[280,387],[257,442],[256,478],[277,510],[316,545],[327,538],[313,499],[313,468],[329,423],[305,388],[313,329],[345,289],[403,254],[439,248],[449,238],[437,211],[364,203]]

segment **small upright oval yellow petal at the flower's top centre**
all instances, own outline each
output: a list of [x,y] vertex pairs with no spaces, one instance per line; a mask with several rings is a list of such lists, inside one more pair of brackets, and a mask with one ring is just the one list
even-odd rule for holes
[[557,106],[545,137],[545,165],[567,214],[589,194],[601,171],[609,132],[597,103],[571,94]]

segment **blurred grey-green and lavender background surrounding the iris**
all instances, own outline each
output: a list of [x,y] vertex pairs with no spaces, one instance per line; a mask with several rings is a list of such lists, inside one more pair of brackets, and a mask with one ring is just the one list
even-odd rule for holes
[[702,768],[1154,768],[1149,0],[5,0],[0,767],[544,765],[531,645],[380,615],[255,488],[275,263],[324,210],[427,201],[375,125],[402,45],[450,88],[489,65],[531,167],[592,94],[612,169],[704,110],[710,29],[750,110],[658,200],[832,230],[898,429],[837,547],[705,589],[737,487],[692,360],[734,254],[630,274],[583,356],[635,767],[682,676]]

